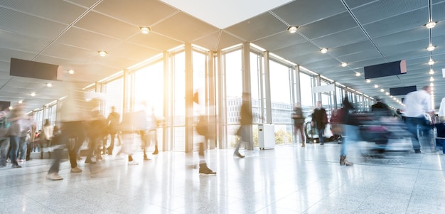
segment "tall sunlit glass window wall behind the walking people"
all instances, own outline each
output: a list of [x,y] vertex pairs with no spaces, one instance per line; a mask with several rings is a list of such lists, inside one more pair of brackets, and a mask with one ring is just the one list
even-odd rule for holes
[[[298,66],[267,51],[251,48],[248,59],[243,59],[244,49],[249,48],[239,46],[213,55],[196,47],[179,47],[85,91],[104,92],[104,115],[109,114],[112,106],[121,115],[125,111],[153,109],[163,121],[158,129],[159,149],[169,151],[190,151],[188,144],[202,141],[203,137],[188,129],[188,125],[194,126],[198,115],[209,112],[215,112],[218,118],[220,137],[213,148],[233,148],[237,141],[235,132],[240,127],[243,89],[252,95],[254,147],[258,146],[257,125],[262,123],[274,124],[276,144],[292,142],[291,110],[296,102],[301,102],[306,121],[310,120],[318,100],[328,116],[333,109],[341,107],[346,96],[358,112],[370,110],[372,100],[368,96],[341,85],[336,85],[333,91],[313,93],[315,86],[334,83],[307,70],[296,71]],[[250,69],[249,73],[245,73],[245,68]],[[191,97],[190,92],[198,92],[198,103],[186,100]],[[216,106],[210,106],[212,104]],[[44,119],[56,124],[56,113],[57,102],[35,111],[38,129]]]

